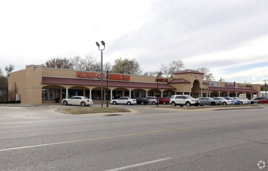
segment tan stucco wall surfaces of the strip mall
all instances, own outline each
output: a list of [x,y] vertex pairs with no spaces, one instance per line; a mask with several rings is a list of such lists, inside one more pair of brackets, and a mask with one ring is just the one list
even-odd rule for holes
[[[29,65],[25,68],[25,70],[20,70],[17,72],[9,73],[8,77],[8,87],[9,89],[12,88],[12,85],[17,86],[17,94],[20,94],[20,99],[22,103],[32,103],[32,104],[41,104],[48,103],[48,102],[55,102],[55,101],[42,101],[41,93],[42,88],[59,88],[59,89],[93,89],[93,90],[100,90],[101,87],[93,86],[93,85],[85,85],[85,86],[77,86],[77,85],[50,85],[50,84],[42,84],[42,76],[49,76],[49,77],[63,77],[63,78],[79,78],[79,79],[89,79],[89,78],[80,78],[77,76],[77,73],[80,71],[77,70],[64,70],[64,69],[56,69],[56,68],[44,68],[40,65]],[[99,74],[100,72],[94,72]],[[96,74],[96,75],[97,75]],[[106,72],[104,72],[106,74]],[[115,73],[109,73],[115,74]],[[166,90],[160,89],[159,91],[166,91],[166,92],[203,92],[206,93],[207,91],[202,91],[202,88],[208,88],[209,84],[203,84],[202,74],[198,74],[198,77],[195,76],[196,73],[182,73],[182,74],[174,74],[174,78],[166,78],[166,77],[159,77],[159,79],[168,79],[168,81],[172,81],[173,79],[183,78],[190,83],[170,83],[169,85],[173,86],[175,89]],[[144,83],[157,83],[155,76],[139,76],[139,75],[129,75],[130,82],[144,82]],[[99,80],[99,78],[90,78]],[[198,80],[198,81],[195,81]],[[209,81],[204,81],[209,82]],[[217,82],[217,87],[226,87],[226,82],[220,81],[213,81]],[[159,81],[159,84],[167,84],[165,81]],[[251,84],[251,87],[246,87],[249,84],[240,84],[244,85],[244,87],[238,86],[240,83],[236,83],[235,88],[248,88],[253,89],[260,92],[260,84]],[[109,90],[133,90],[133,91],[156,91],[155,88],[134,88],[134,87],[126,87],[126,88],[118,88],[118,87],[108,87]],[[103,85],[103,90],[106,90],[106,86]],[[230,87],[230,93],[233,91],[233,88]],[[237,92],[237,91],[236,91]],[[211,93],[211,91],[209,91]],[[221,92],[219,92],[221,93]],[[85,92],[84,92],[85,94]],[[252,93],[251,93],[252,94]],[[258,93],[256,93],[258,94]],[[62,99],[62,90],[60,93],[60,99]],[[260,96],[260,94],[258,94]]]

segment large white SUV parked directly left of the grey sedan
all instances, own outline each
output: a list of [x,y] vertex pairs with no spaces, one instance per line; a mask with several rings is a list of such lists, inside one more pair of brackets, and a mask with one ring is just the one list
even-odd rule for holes
[[180,105],[181,107],[184,105],[186,105],[187,107],[190,107],[192,105],[200,105],[199,99],[192,98],[189,95],[173,95],[170,97],[169,103],[171,104],[171,106]]

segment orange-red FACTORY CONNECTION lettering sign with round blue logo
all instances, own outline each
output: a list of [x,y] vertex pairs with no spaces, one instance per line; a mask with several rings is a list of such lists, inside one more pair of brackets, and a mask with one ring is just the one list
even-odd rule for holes
[[[102,79],[106,78],[106,74],[103,73]],[[101,73],[96,72],[85,72],[85,71],[77,71],[77,77],[78,78],[99,78],[101,79]],[[129,81],[130,76],[129,75],[123,75],[123,74],[108,74],[109,80],[122,80],[122,81]]]

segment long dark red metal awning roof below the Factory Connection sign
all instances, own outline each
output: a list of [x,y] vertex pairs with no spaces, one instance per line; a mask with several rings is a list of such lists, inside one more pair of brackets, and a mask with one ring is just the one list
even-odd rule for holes
[[[70,85],[96,85],[101,86],[101,80],[94,79],[75,79],[75,78],[57,78],[57,77],[42,77],[43,84],[70,84]],[[103,80],[103,86],[107,85],[106,80]],[[108,86],[115,87],[136,87],[136,88],[157,88],[157,83],[141,83],[129,81],[108,81]],[[158,83],[158,88],[176,89],[168,84]]]

